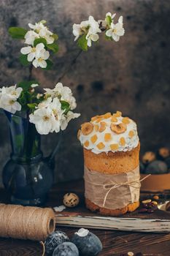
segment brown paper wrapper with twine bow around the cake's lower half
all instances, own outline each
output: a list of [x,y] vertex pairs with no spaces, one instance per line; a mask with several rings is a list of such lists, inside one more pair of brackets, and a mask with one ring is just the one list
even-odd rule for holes
[[[93,203],[96,203],[96,205],[106,207],[105,205],[107,202],[107,197],[109,193],[115,189],[115,193],[112,195],[114,196],[113,200],[109,201],[109,206],[107,206],[107,208],[112,207],[114,209],[115,200],[118,200],[119,202],[119,206],[116,206],[116,208],[123,208],[124,205],[120,206],[120,204],[123,202],[120,200],[120,191],[117,189],[124,186],[123,195],[125,195],[126,199],[124,198],[123,201],[125,205],[127,205],[129,201],[134,203],[134,201],[139,200],[141,181],[144,181],[144,179],[148,178],[149,176],[150,174],[140,179],[139,166],[134,170],[131,170],[131,172],[115,175],[90,171],[87,167],[85,167],[85,195]],[[88,184],[90,184],[90,186]],[[101,187],[101,189],[97,189],[96,186]],[[131,192],[131,189],[129,190],[128,187],[133,188],[133,192]]]

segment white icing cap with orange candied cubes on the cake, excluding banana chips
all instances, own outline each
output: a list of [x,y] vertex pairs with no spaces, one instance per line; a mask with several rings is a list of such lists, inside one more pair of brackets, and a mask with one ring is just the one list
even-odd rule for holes
[[[106,118],[106,116],[109,116],[107,114],[92,118],[90,124],[93,124],[93,128],[91,129],[90,127],[90,132],[86,132],[87,135],[85,135],[82,129],[79,132],[79,139],[82,146],[95,154],[101,152],[108,153],[109,151],[131,151],[133,148],[136,148],[139,143],[136,123],[128,118],[128,124],[125,124],[125,131],[117,134],[110,128],[111,124],[123,123],[124,118],[121,116],[121,113],[120,115],[116,115],[117,113],[113,114],[117,118],[117,121],[113,121],[114,118],[112,116]],[[106,125],[105,129],[101,129],[102,132],[100,132],[95,127],[98,125],[98,128],[100,128],[102,122],[106,123]]]

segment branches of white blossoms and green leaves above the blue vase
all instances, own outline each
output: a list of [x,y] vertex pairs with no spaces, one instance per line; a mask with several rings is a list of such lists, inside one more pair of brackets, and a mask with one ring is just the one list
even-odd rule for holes
[[[115,14],[107,12],[104,20],[96,21],[93,16],[89,16],[88,20],[73,25],[74,40],[77,40],[81,50],[58,79],[59,81],[76,63],[82,51],[87,51],[92,46],[92,42],[98,41],[98,34],[104,32],[106,39],[119,41],[125,33],[123,17],[120,16],[117,23],[114,19]],[[58,35],[50,31],[45,23],[45,20],[35,24],[28,23],[29,30],[19,27],[9,28],[12,38],[24,40],[26,46],[20,50],[20,63],[29,66],[30,74],[27,81],[15,86],[3,86],[0,89],[0,108],[12,114],[25,113],[29,121],[35,124],[37,132],[43,135],[66,129],[70,120],[80,116],[79,113],[73,112],[77,104],[69,87],[57,83],[54,89],[44,89],[45,92],[39,94],[36,91],[39,83],[31,80],[32,68],[50,69],[53,66],[50,56],[52,53],[58,53],[56,42]]]

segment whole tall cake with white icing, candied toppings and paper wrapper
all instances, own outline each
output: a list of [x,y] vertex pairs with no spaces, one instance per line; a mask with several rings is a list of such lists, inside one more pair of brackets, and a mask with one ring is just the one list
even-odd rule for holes
[[139,206],[139,137],[136,123],[122,113],[94,116],[81,125],[85,203],[91,211],[117,216]]

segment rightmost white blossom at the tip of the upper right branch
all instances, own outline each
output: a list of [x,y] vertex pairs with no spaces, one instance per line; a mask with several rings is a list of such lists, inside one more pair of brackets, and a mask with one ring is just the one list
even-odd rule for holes
[[106,31],[106,35],[107,37],[112,37],[117,42],[123,34],[125,34],[125,29],[123,29],[123,17],[120,16],[116,24],[111,23],[110,29]]

